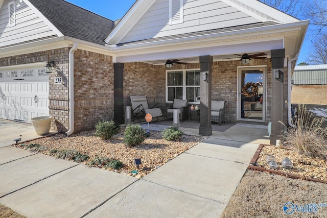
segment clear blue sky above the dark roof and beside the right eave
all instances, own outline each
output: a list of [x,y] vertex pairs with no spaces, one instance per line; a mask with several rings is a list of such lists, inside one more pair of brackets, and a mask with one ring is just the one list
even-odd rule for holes
[[[136,0],[65,0],[66,2],[77,5],[88,11],[99,14],[111,20],[117,20],[122,18],[127,11],[133,6]],[[310,49],[311,41],[308,37],[309,30],[305,41],[302,44],[301,52],[297,59],[296,64],[306,62],[308,52]]]

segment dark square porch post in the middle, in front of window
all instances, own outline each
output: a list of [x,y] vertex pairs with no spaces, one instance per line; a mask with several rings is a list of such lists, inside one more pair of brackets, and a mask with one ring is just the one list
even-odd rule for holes
[[[212,65],[213,56],[206,55],[200,56],[200,127],[199,135],[210,136],[213,134],[211,126],[211,78],[212,78]],[[205,75],[206,80],[204,80]]]

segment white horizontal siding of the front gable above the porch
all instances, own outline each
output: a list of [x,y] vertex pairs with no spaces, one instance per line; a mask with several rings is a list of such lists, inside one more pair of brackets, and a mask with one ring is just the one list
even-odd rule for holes
[[183,22],[170,25],[169,0],[157,0],[121,42],[246,25],[258,19],[217,0],[183,0]]

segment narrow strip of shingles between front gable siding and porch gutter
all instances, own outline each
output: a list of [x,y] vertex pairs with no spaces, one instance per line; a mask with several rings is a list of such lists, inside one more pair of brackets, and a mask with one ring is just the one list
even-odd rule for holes
[[164,41],[164,40],[169,40],[169,39],[186,38],[186,37],[192,37],[192,36],[209,35],[209,34],[223,33],[223,32],[235,31],[235,30],[264,27],[264,26],[270,26],[270,25],[276,25],[276,24],[278,24],[278,23],[274,22],[274,21],[251,23],[249,25],[241,25],[241,26],[235,26],[235,27],[220,28],[220,29],[215,29],[215,30],[205,30],[205,31],[199,31],[199,32],[184,33],[184,34],[151,38],[151,39],[145,39],[145,40],[139,40],[139,41],[133,41],[133,42],[124,42],[124,43],[117,44],[117,46],[141,44],[141,43],[155,42],[155,41]]

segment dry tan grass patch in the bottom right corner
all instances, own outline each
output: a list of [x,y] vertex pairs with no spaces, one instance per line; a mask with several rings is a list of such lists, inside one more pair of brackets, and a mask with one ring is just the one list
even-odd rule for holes
[[297,205],[325,203],[326,184],[247,170],[221,217],[327,217],[327,207],[316,214],[286,214],[287,202]]

